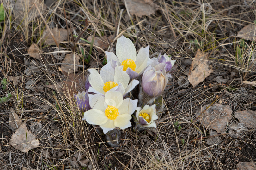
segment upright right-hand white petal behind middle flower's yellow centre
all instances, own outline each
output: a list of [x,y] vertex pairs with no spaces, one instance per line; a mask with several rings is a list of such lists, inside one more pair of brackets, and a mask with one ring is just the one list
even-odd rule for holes
[[123,66],[119,66],[115,68],[115,76],[114,76],[114,82],[116,83],[122,83],[124,88],[127,88],[128,83],[130,81],[129,75],[126,73],[126,71],[123,71]]

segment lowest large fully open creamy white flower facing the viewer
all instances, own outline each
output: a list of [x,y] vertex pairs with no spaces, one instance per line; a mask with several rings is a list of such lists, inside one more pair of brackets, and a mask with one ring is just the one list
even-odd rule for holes
[[116,127],[125,129],[131,126],[131,114],[135,111],[138,100],[123,100],[120,92],[107,91],[105,96],[89,94],[92,109],[84,112],[82,120],[93,125],[100,125],[104,134]]

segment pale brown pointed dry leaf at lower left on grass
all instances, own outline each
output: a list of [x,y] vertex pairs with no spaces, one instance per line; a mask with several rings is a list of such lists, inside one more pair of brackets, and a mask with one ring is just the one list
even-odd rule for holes
[[18,130],[12,135],[10,144],[17,150],[27,153],[29,150],[39,146],[39,141],[26,127],[26,120],[21,124]]

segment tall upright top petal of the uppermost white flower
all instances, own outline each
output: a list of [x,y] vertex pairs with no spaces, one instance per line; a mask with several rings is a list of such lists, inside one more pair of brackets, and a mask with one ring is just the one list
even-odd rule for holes
[[117,39],[116,55],[120,63],[126,59],[136,60],[136,49],[129,38],[122,36]]

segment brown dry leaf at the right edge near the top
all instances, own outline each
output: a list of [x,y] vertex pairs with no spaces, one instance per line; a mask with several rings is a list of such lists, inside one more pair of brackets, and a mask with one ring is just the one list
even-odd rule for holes
[[243,27],[238,33],[237,37],[245,40],[255,41],[256,39],[256,24],[248,24]]

